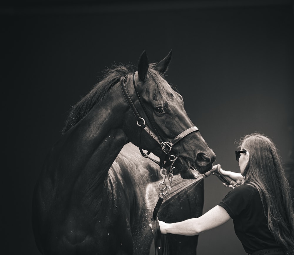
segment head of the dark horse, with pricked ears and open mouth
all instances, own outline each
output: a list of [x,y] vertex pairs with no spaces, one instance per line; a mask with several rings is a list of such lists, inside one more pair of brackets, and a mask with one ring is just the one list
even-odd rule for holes
[[[182,96],[164,79],[171,53],[158,64],[149,64],[144,51],[138,61],[138,71],[123,80],[131,101],[125,132],[141,149],[158,157],[167,152],[164,160],[176,159],[174,166],[183,179],[195,179],[197,171],[203,174],[211,170],[216,156],[189,119]],[[128,95],[125,94],[126,99]],[[138,132],[133,131],[134,125],[138,126]],[[163,148],[169,141],[173,141],[172,146]]]

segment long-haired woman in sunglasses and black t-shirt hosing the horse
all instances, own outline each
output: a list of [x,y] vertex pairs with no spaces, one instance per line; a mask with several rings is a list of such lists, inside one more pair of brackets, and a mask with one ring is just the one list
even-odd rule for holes
[[159,221],[161,233],[198,235],[233,219],[248,254],[294,254],[289,184],[273,141],[255,133],[245,136],[240,148],[235,153],[241,174],[221,173],[241,185],[199,218],[170,224]]

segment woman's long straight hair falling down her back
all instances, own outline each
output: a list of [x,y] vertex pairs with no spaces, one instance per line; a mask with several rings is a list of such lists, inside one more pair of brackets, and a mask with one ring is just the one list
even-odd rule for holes
[[271,139],[258,133],[245,136],[240,146],[249,153],[244,184],[258,190],[275,240],[286,254],[294,254],[293,205],[278,150]]

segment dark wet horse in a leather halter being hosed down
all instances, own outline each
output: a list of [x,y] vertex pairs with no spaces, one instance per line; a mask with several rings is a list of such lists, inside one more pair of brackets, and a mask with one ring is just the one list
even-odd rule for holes
[[[182,96],[164,78],[171,53],[149,63],[143,51],[136,72],[113,66],[72,107],[33,193],[32,226],[42,254],[149,254],[148,194],[160,178],[155,165],[161,170],[173,165],[181,179],[197,179],[212,169],[214,152],[188,118]],[[119,154],[124,146],[128,157],[124,150]],[[195,194],[183,192],[176,194],[195,204]],[[168,204],[163,203],[163,217]]]

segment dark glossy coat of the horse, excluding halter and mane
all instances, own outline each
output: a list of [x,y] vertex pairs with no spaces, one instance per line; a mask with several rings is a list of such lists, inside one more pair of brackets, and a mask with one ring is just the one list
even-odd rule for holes
[[[169,60],[170,55],[164,63],[160,62],[159,72],[167,69]],[[138,66],[141,65],[140,59]],[[162,138],[171,140],[193,124],[183,108],[181,96],[161,76],[158,82],[164,83],[173,104],[166,101],[163,115],[155,112],[159,104],[154,97],[157,84],[150,79],[150,70],[146,75],[145,82],[138,78],[142,74],[136,76],[138,92]],[[132,84],[126,85],[139,107]],[[128,144],[129,141],[139,144],[138,127],[119,84],[110,88],[98,103],[94,104],[90,97],[88,103],[77,104],[81,108],[88,105],[89,109],[82,118],[69,123],[69,129],[45,160],[34,190],[32,215],[36,244],[42,254],[149,254],[152,234],[148,225],[158,198],[154,187],[159,168],[141,157],[138,148]],[[157,156],[161,154],[160,146],[147,134],[142,134],[141,139],[143,149]],[[192,163],[205,172],[215,160],[199,131],[178,142],[172,152],[179,156],[175,166],[186,179],[196,177],[195,170],[190,168]],[[178,221],[201,215],[202,186],[190,180],[177,182],[186,188],[181,190],[175,185],[178,191],[162,205],[160,219]],[[185,254],[189,254],[188,250],[191,254],[196,252],[197,237],[169,238],[175,239],[167,242],[170,246],[166,250],[171,254],[182,254],[184,250]],[[189,239],[193,240],[185,241]]]

